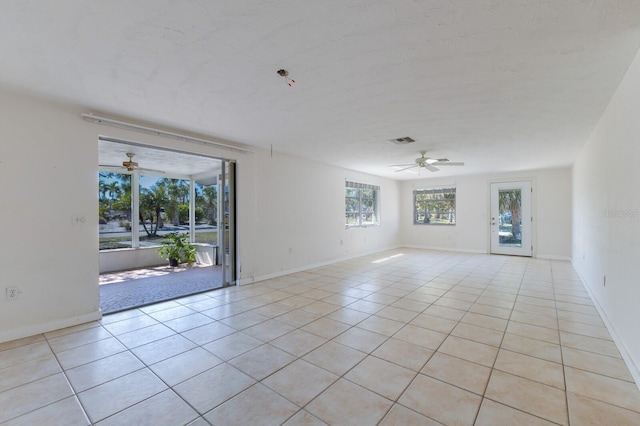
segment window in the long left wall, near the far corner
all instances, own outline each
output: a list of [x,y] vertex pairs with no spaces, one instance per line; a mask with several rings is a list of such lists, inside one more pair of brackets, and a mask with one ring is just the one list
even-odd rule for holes
[[347,227],[379,225],[378,195],[380,187],[345,182],[345,219]]

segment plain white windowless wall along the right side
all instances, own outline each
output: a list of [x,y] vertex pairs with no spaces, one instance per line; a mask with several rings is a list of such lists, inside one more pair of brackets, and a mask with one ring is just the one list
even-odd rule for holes
[[[573,167],[573,264],[640,367],[640,57]],[[604,276],[606,275],[606,287]],[[632,368],[633,370],[633,368]]]

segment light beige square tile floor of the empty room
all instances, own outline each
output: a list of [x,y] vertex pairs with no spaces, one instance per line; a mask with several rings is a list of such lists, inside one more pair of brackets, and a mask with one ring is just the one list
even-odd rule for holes
[[0,344],[3,425],[638,425],[571,264],[395,250]]

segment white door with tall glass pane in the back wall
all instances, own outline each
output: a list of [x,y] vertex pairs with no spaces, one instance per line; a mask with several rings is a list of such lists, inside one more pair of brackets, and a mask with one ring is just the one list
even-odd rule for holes
[[531,256],[531,182],[491,184],[491,253]]

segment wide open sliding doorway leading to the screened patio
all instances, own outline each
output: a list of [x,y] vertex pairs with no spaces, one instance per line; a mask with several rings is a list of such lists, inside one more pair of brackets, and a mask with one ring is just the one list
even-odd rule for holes
[[[233,160],[99,138],[100,308],[236,284]],[[178,266],[159,249],[181,240]]]

